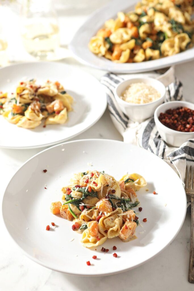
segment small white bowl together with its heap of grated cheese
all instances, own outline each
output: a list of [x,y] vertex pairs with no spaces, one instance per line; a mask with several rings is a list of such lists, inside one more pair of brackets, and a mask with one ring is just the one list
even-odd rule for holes
[[154,115],[155,109],[164,102],[165,93],[164,84],[153,78],[130,78],[118,84],[114,91],[121,110],[137,122]]

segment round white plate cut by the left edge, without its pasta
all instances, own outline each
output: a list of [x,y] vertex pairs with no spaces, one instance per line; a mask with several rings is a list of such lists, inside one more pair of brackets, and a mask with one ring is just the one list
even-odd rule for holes
[[34,62],[0,69],[0,91],[15,92],[22,78],[35,78],[42,84],[48,79],[59,81],[74,98],[73,111],[65,124],[42,124],[25,129],[0,116],[0,147],[39,148],[60,143],[85,131],[96,123],[106,109],[106,94],[102,85],[90,74],[74,66],[54,62]]

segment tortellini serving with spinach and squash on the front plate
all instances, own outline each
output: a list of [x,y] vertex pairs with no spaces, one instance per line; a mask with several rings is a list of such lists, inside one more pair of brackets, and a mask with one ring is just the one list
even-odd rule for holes
[[127,242],[136,238],[138,217],[132,210],[139,204],[136,191],[146,184],[136,173],[124,175],[120,181],[104,171],[78,173],[62,188],[63,204],[51,203],[51,212],[74,221],[72,229],[82,233],[85,247],[102,245],[113,237]]

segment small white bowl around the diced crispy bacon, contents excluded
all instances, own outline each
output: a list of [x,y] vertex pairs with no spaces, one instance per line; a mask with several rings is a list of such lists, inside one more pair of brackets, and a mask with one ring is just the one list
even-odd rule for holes
[[169,145],[179,147],[184,142],[189,139],[194,138],[194,132],[180,132],[174,129],[170,129],[163,125],[159,118],[160,113],[165,113],[168,109],[173,109],[177,107],[188,107],[194,110],[194,104],[186,101],[170,101],[160,105],[154,112],[154,121],[156,123],[157,130],[161,138]]

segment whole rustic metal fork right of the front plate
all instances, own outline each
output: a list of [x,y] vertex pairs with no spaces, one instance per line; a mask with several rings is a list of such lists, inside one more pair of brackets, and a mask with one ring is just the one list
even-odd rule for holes
[[194,283],[194,168],[186,166],[185,191],[191,197],[191,241],[188,281]]

